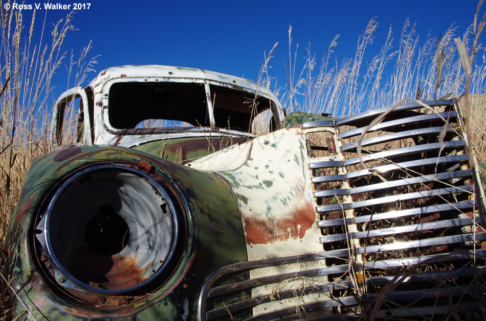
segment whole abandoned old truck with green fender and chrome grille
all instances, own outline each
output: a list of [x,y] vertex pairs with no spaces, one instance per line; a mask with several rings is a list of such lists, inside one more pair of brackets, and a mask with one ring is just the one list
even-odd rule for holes
[[61,95],[62,148],[26,178],[9,228],[15,314],[477,317],[484,191],[459,103],[425,103],[286,115],[237,77],[102,71]]

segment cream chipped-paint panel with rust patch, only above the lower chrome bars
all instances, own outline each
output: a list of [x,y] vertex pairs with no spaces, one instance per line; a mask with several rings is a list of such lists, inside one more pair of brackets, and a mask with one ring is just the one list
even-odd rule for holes
[[[302,130],[280,130],[190,163],[217,172],[232,188],[250,260],[322,250],[307,179]],[[260,168],[260,169],[255,169]]]

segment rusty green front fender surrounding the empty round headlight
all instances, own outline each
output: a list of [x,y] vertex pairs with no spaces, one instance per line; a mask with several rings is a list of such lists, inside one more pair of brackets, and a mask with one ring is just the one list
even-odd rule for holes
[[[28,236],[34,234],[39,210],[48,200],[46,196],[65,176],[86,166],[116,163],[137,168],[141,160],[151,165],[149,175],[171,190],[178,200],[178,211],[185,213],[185,241],[176,249],[178,258],[171,263],[171,272],[142,292],[122,295],[95,294],[56,285],[49,273],[52,270],[49,260],[42,257],[38,246],[34,250],[34,239]],[[16,309],[21,314],[26,304],[35,317],[45,315],[49,319],[115,316],[172,319],[182,315],[189,319],[196,306],[189,293],[200,289],[205,276],[221,266],[247,259],[239,211],[222,181],[208,172],[122,147],[79,146],[38,158],[29,171],[9,235],[10,272],[16,280],[12,285],[23,301],[16,303]],[[215,243],[221,244],[222,249],[214,249]],[[125,267],[119,265],[120,270],[109,273],[109,277],[116,279],[128,274],[127,263]],[[184,301],[185,306],[181,304]]]

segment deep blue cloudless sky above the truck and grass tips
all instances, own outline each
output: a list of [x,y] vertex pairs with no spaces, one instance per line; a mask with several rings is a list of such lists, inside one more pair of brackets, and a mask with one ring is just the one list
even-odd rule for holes
[[[26,0],[25,4],[41,3]],[[88,0],[90,1],[90,0]],[[56,3],[73,4],[60,0]],[[92,41],[89,57],[97,57],[97,72],[125,64],[162,64],[208,69],[256,81],[264,52],[275,42],[278,46],[270,61],[271,76],[285,86],[285,64],[289,64],[289,24],[292,25],[292,56],[299,44],[297,58],[303,63],[307,40],[318,60],[327,52],[330,41],[340,34],[334,49],[338,61],[352,57],[358,37],[372,17],[379,27],[370,53],[378,52],[388,28],[394,30],[394,48],[407,17],[417,23],[423,39],[444,34],[455,23],[461,35],[472,23],[477,2],[465,1],[97,1],[89,10],[75,13],[63,50],[74,57]],[[486,7],[486,5],[484,6]],[[72,8],[72,7],[71,7]],[[485,8],[482,8],[484,12]],[[46,10],[38,10],[39,30]],[[65,18],[68,10],[49,10],[47,26]],[[28,13],[24,13],[28,16]],[[68,57],[69,58],[69,57]],[[56,75],[54,98],[67,89],[64,60]],[[299,64],[298,64],[299,66]],[[96,76],[92,73],[88,79]],[[72,85],[72,84],[71,84]]]

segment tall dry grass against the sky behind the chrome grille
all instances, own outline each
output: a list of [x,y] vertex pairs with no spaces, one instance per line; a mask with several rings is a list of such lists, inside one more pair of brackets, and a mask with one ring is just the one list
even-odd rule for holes
[[[395,39],[391,27],[378,55],[369,57],[368,48],[377,42],[375,18],[370,19],[358,37],[357,49],[352,58],[338,58],[333,48],[338,46],[339,35],[317,63],[311,43],[305,49],[304,61],[296,61],[292,47],[292,27],[289,28],[289,75],[287,86],[278,88],[279,98],[288,111],[329,113],[336,117],[384,106],[411,98],[429,100],[450,96],[459,97],[469,86],[470,93],[485,93],[486,54],[474,39],[477,28],[471,25],[462,35],[455,24],[442,35],[422,35],[416,32],[416,23],[409,19],[403,24],[400,38]],[[466,53],[474,50],[482,57],[471,69],[469,80],[462,72],[456,38],[460,38]],[[294,60],[292,60],[292,56]],[[368,61],[368,63],[365,63]],[[299,70],[296,66],[302,65]],[[297,70],[296,70],[297,69]]]

